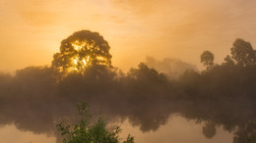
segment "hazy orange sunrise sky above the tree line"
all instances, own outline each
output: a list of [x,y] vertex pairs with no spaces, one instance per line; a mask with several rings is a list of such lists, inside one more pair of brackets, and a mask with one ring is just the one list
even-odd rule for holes
[[74,31],[98,31],[113,65],[127,71],[146,56],[198,67],[208,49],[218,62],[237,37],[256,45],[255,0],[0,0],[0,71],[49,65]]

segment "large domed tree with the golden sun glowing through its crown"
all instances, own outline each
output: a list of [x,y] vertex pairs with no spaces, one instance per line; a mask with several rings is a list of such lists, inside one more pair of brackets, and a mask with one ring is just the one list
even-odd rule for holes
[[58,71],[80,71],[92,67],[111,67],[109,45],[97,32],[81,30],[62,40],[54,54],[52,67]]

